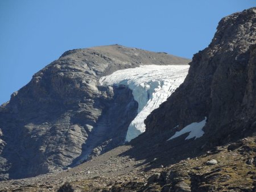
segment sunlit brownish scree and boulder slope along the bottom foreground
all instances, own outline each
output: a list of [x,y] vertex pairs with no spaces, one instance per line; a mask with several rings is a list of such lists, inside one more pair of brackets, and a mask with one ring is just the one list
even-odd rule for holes
[[2,181],[0,191],[256,191],[256,137],[168,166],[161,158],[123,156],[130,148],[123,145],[64,172]]

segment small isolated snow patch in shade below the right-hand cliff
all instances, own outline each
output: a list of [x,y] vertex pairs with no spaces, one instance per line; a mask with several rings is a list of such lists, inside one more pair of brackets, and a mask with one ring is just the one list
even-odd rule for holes
[[185,138],[185,140],[192,139],[192,138],[197,139],[197,138],[203,136],[204,135],[203,127],[205,126],[206,121],[207,121],[207,117],[205,116],[205,119],[202,120],[201,122],[191,123],[188,126],[184,127],[182,130],[177,131],[174,134],[174,136],[172,136],[167,141],[174,139],[174,138],[176,138],[180,135],[183,135],[184,133],[188,133],[188,132],[189,132],[189,135]]

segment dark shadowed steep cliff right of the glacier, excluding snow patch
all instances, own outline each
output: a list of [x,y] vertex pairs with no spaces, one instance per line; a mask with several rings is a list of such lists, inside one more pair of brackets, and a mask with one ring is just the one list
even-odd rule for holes
[[[164,133],[159,140],[167,140],[205,116],[205,134],[195,140],[202,145],[210,147],[255,134],[255,44],[256,8],[223,18],[212,43],[194,55],[184,83],[147,117],[146,137],[158,132]],[[184,137],[181,139],[185,144]]]

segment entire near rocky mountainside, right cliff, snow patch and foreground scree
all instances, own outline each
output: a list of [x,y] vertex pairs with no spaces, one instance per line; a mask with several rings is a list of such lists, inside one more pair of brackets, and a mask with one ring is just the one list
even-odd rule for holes
[[223,18],[184,83],[147,117],[146,132],[75,168],[0,189],[256,191],[255,44],[256,8]]

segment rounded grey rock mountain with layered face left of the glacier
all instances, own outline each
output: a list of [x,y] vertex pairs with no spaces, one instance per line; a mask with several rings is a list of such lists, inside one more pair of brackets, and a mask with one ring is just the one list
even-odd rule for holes
[[61,170],[123,144],[138,103],[100,77],[188,61],[120,45],[65,52],[0,107],[0,180]]

